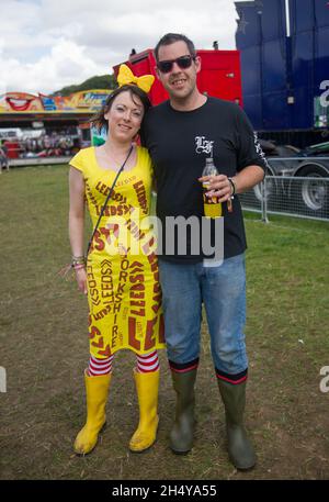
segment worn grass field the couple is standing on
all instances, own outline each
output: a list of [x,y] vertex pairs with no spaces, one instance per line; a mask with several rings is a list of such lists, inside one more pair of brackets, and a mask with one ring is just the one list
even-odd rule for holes
[[18,168],[0,176],[1,479],[328,479],[328,223],[247,215],[250,378],[247,427],[257,467],[237,472],[225,449],[224,410],[206,328],[197,376],[193,450],[168,448],[174,395],[161,358],[156,445],[133,455],[137,423],[135,358],[115,360],[107,428],[86,458],[72,442],[84,420],[87,303],[58,269],[70,259],[67,167]]

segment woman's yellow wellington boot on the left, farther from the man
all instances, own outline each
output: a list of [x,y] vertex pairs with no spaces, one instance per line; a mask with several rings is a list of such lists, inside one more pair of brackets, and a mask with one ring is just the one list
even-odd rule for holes
[[111,375],[89,377],[84,373],[87,394],[87,422],[75,442],[77,455],[87,455],[98,443],[99,432],[106,422],[105,406],[109,395]]

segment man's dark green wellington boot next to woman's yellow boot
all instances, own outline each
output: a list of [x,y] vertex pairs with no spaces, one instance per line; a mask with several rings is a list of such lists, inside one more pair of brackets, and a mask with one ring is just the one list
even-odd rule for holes
[[194,436],[194,383],[196,369],[179,373],[171,371],[173,389],[177,393],[175,421],[170,433],[170,448],[175,454],[188,454]]

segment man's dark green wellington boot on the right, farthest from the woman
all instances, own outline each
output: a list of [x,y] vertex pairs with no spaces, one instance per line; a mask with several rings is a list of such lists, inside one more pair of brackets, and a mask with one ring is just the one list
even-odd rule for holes
[[237,469],[251,469],[256,464],[256,454],[243,426],[246,381],[237,384],[217,381],[225,405],[229,459]]

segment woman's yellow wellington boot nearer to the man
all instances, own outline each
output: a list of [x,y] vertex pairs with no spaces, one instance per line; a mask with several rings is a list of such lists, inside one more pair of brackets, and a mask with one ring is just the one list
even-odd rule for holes
[[139,424],[131,439],[129,449],[140,453],[149,448],[157,437],[160,371],[139,373],[134,370],[134,377],[139,404]]

